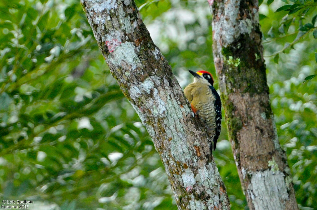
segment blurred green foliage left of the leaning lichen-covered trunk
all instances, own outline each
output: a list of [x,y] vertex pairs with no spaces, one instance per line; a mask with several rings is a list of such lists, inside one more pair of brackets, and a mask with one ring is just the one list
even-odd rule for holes
[[176,209],[163,165],[77,2],[0,5],[1,198]]

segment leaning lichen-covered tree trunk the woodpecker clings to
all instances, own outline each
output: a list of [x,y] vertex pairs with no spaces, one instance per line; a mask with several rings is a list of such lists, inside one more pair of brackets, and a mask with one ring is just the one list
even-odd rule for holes
[[81,0],[110,71],[165,165],[178,209],[230,209],[206,131],[131,0]]

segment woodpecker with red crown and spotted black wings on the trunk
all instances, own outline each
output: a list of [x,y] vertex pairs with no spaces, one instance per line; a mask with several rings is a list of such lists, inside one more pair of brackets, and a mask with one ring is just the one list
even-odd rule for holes
[[186,98],[191,103],[191,109],[208,127],[208,134],[213,136],[210,141],[210,150],[216,149],[217,140],[221,129],[221,100],[213,87],[214,80],[208,71],[193,72],[193,83],[184,89]]

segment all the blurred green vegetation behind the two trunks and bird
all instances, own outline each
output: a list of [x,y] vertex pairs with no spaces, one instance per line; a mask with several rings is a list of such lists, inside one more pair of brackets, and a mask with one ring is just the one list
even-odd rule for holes
[[[182,87],[187,69],[215,75],[207,1],[136,3]],[[260,3],[279,140],[300,208],[317,209],[316,0]],[[77,0],[2,0],[0,63],[2,200],[32,200],[36,210],[177,209],[159,155]],[[213,154],[231,209],[248,209],[224,122],[218,142]]]

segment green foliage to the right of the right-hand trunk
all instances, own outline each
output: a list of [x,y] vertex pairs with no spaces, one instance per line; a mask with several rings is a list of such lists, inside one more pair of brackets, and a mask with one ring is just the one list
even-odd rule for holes
[[297,202],[301,209],[313,210],[317,208],[316,2],[290,2],[261,5],[268,18],[260,23],[278,136],[288,156]]

